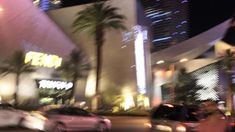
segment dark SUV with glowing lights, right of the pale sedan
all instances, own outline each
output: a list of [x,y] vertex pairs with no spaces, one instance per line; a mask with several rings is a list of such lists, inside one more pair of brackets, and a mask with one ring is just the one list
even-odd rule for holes
[[150,116],[150,131],[194,132],[199,124],[197,106],[161,104]]

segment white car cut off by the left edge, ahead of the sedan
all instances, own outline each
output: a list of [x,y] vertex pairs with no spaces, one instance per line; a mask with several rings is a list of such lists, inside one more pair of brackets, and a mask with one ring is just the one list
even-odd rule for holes
[[27,112],[15,109],[11,104],[0,103],[0,127],[21,126]]

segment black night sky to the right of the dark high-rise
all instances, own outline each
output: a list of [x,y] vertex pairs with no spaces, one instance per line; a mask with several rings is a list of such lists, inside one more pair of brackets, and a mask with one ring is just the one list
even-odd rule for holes
[[233,16],[235,0],[190,0],[190,36],[195,36]]

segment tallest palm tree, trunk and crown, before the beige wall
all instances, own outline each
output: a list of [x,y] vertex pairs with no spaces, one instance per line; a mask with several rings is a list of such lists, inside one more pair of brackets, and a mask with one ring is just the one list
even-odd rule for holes
[[96,46],[96,95],[99,93],[99,79],[102,67],[102,46],[104,44],[105,30],[121,29],[126,30],[124,26],[125,16],[117,13],[119,8],[111,7],[104,1],[96,2],[91,6],[80,11],[73,22],[75,32],[87,31],[94,35]]

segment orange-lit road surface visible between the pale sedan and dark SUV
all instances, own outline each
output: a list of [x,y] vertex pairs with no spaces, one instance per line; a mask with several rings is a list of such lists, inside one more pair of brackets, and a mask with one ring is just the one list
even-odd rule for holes
[[[146,132],[144,123],[148,122],[147,117],[135,116],[108,116],[112,122],[110,132]],[[4,128],[0,132],[35,132],[23,128]]]

